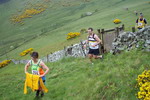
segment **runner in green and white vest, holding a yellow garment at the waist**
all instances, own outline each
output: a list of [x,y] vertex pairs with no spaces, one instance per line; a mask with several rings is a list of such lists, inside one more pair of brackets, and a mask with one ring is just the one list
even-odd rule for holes
[[[45,83],[46,78],[45,75],[48,73],[49,68],[44,64],[44,62],[41,61],[41,59],[38,59],[39,55],[38,52],[33,52],[31,54],[31,60],[25,65],[25,73],[28,73],[28,67],[31,66],[32,74],[39,75],[43,82]],[[44,72],[44,69],[46,70]],[[36,92],[36,97],[39,96],[39,93],[41,92],[41,96],[44,96],[44,92],[41,87]]]

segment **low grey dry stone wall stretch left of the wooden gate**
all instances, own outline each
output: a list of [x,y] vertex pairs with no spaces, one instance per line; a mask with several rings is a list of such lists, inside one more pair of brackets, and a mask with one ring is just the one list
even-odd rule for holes
[[[82,41],[85,42],[85,41]],[[64,48],[64,50],[56,51],[52,54],[48,54],[46,57],[40,58],[43,62],[55,62],[64,57],[85,57],[87,55],[88,48],[83,49],[82,43],[74,44]],[[15,64],[26,64],[29,60],[15,60],[12,62]]]

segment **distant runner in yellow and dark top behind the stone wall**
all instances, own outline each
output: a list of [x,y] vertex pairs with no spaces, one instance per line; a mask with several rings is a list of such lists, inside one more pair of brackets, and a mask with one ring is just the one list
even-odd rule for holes
[[141,13],[139,18],[136,20],[136,24],[137,24],[137,28],[140,30],[140,29],[143,29],[146,24],[147,24],[147,21],[145,18],[143,18],[143,14]]

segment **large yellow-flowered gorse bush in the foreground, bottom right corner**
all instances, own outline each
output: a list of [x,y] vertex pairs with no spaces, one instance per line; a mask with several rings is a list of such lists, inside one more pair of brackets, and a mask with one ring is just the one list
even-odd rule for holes
[[150,100],[150,70],[145,70],[141,75],[138,75],[136,80],[139,86],[137,97],[140,100]]

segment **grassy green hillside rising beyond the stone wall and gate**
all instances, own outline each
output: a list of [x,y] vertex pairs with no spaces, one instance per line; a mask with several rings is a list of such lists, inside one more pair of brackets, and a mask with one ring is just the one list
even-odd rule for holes
[[[24,19],[24,25],[14,25],[10,22],[12,15],[19,14],[34,4],[44,4],[47,9],[39,15],[34,15],[33,18]],[[115,18],[121,19],[128,31],[135,25],[137,18],[134,14],[135,10],[143,12],[147,21],[150,21],[149,7],[149,0],[10,0],[0,4],[0,22],[2,23],[0,24],[0,54],[36,36],[36,39],[23,44],[7,55],[9,58],[26,59],[18,55],[32,47],[40,52],[41,56],[45,56],[86,38],[86,34],[82,34],[80,38],[67,41],[68,32],[79,32],[88,27],[93,27],[96,32],[98,28],[108,29],[120,26],[121,24],[112,23]],[[93,12],[93,15],[81,18],[85,12]],[[6,59],[5,55],[0,59]]]

